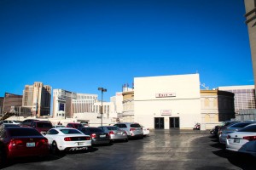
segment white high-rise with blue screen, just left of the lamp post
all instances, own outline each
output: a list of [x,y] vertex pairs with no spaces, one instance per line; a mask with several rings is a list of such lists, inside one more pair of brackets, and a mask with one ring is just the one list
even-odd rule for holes
[[96,94],[77,94],[63,89],[53,90],[53,116],[73,117],[74,113],[94,112]]

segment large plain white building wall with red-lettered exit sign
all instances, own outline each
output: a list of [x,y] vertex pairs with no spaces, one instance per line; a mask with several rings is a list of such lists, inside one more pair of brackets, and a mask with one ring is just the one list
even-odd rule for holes
[[[135,122],[154,128],[154,117],[165,117],[165,129],[170,127],[170,117],[179,117],[180,128],[191,128],[201,122],[199,74],[136,77],[134,84]],[[156,97],[168,93],[171,96]],[[167,115],[161,113],[164,110]]]

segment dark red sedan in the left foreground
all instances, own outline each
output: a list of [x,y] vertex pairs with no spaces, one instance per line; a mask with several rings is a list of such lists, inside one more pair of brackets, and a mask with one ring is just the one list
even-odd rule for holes
[[0,126],[0,164],[9,158],[49,154],[48,140],[36,129],[10,126]]

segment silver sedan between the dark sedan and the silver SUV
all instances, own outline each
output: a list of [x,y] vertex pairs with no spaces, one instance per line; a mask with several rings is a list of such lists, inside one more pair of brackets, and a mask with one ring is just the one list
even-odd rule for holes
[[120,129],[119,127],[102,126],[99,128],[101,128],[104,133],[108,133],[111,141],[114,141],[114,140],[125,140],[126,142],[128,141],[127,133],[125,132],[125,130]]

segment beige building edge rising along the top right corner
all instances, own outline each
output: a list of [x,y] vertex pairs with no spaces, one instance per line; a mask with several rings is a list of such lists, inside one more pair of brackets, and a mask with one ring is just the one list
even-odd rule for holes
[[244,3],[246,8],[246,24],[249,33],[253,61],[254,82],[256,82],[256,0],[244,0]]

